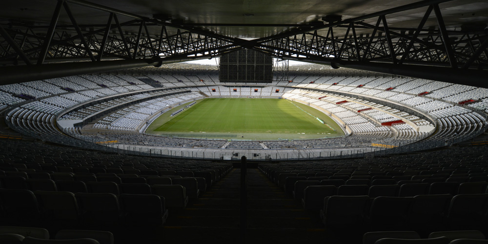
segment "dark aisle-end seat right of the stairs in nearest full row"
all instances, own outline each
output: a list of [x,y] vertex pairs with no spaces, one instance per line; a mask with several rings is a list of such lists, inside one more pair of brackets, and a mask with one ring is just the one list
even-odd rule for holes
[[343,229],[362,227],[369,197],[364,196],[331,196],[324,200],[322,210],[326,228]]

